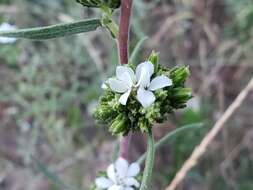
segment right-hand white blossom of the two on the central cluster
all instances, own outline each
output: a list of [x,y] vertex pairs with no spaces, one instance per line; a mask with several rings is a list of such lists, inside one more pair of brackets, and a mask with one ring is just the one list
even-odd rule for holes
[[152,91],[171,86],[172,80],[165,75],[157,76],[150,81],[154,73],[154,65],[151,62],[144,62],[136,68],[137,78],[137,100],[146,108],[155,101],[155,95]]

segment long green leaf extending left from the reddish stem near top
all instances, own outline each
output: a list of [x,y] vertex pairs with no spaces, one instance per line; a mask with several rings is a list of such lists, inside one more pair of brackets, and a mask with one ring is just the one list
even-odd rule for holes
[[12,38],[26,38],[32,40],[47,40],[73,34],[90,32],[101,26],[99,19],[82,20],[66,24],[28,28],[11,31],[1,31],[0,36]]

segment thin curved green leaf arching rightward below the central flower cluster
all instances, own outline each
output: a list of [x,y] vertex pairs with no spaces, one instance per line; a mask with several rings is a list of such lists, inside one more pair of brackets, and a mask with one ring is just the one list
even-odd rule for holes
[[[202,127],[203,123],[193,123],[193,124],[189,124],[189,125],[184,125],[170,133],[168,133],[167,135],[165,135],[163,138],[161,138],[156,144],[155,144],[155,149],[160,148],[162,145],[166,144],[169,140],[172,140],[173,138],[175,138],[177,135],[180,135],[181,133],[189,130],[189,129],[194,129],[194,128],[199,128]],[[139,159],[138,159],[138,163],[142,164],[145,160],[147,156],[147,153],[144,153]]]

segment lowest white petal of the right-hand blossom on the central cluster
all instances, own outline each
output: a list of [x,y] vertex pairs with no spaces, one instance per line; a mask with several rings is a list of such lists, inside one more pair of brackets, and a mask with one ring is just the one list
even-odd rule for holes
[[155,96],[151,91],[139,88],[137,91],[137,100],[144,108],[147,108],[155,101]]

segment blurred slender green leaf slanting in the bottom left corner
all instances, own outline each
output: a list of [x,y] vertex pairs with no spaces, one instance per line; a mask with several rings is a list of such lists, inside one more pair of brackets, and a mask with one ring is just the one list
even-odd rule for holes
[[36,169],[38,169],[45,177],[51,180],[51,182],[58,187],[59,189],[64,189],[64,190],[77,190],[75,188],[69,187],[65,185],[65,183],[53,172],[51,172],[47,166],[45,166],[43,163],[41,163],[39,160],[36,158],[32,157],[32,159],[36,163]]

